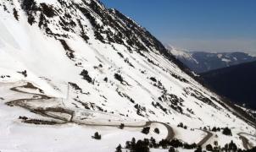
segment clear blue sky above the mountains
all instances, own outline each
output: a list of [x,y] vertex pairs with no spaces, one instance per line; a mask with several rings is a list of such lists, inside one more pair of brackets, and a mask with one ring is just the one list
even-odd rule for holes
[[256,0],[101,0],[165,45],[256,54]]

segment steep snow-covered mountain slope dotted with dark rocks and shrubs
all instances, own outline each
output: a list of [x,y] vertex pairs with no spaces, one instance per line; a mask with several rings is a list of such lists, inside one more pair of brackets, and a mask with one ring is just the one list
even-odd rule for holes
[[[136,133],[140,128],[79,124],[142,126],[157,121],[173,128],[180,122],[188,128],[229,127],[234,135],[226,143],[237,133],[255,132],[253,122],[198,84],[153,35],[117,10],[96,0],[0,4],[1,151],[114,151],[132,134],[157,136]],[[37,127],[21,123],[19,116],[64,124]],[[95,131],[103,133],[102,141],[93,142]],[[39,139],[25,142],[27,135]],[[182,133],[177,137],[191,141]],[[71,147],[70,138],[75,138]],[[242,148],[241,140],[234,141]]]

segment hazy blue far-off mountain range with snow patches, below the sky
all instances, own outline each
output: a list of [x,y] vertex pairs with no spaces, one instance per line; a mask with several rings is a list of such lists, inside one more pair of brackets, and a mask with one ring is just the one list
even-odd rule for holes
[[256,61],[256,57],[244,52],[188,52],[169,47],[170,52],[196,73]]

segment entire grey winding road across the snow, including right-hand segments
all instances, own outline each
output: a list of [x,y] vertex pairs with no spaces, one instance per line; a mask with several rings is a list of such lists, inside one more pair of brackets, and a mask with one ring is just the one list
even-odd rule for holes
[[[23,85],[23,86],[18,86],[18,87],[11,88],[10,90],[13,90],[13,91],[19,92],[19,93],[23,93],[23,94],[33,95],[33,98],[11,100],[11,101],[8,101],[6,104],[8,106],[19,106],[19,107],[25,108],[28,111],[32,111],[32,112],[35,112],[36,114],[42,115],[43,117],[51,117],[53,119],[57,119],[59,121],[62,121],[62,122],[59,122],[59,124],[73,122],[73,123],[76,123],[76,124],[79,124],[79,125],[95,126],[95,127],[114,127],[114,128],[120,127],[120,125],[117,125],[117,124],[92,124],[92,123],[89,123],[89,122],[88,123],[86,123],[86,122],[75,122],[73,120],[73,117],[75,116],[75,111],[72,111],[72,110],[69,110],[69,109],[64,109],[64,108],[59,108],[59,107],[58,108],[42,109],[42,108],[34,108],[32,106],[28,106],[27,104],[25,104],[28,101],[54,99],[53,97],[49,97],[47,95],[29,93],[29,92],[19,90],[19,88],[28,88],[28,87],[32,87],[32,89],[36,88],[32,84],[28,83],[28,84]],[[48,113],[50,111],[68,114],[68,115],[70,115],[70,119],[66,119],[64,117],[58,117],[58,116],[55,116],[55,115],[51,115],[51,114]],[[175,132],[174,132],[173,128],[171,128],[170,125],[168,125],[164,122],[151,122],[151,121],[149,121],[149,122],[145,122],[144,125],[141,125],[141,124],[140,125],[125,125],[125,128],[145,128],[145,127],[151,126],[153,123],[162,124],[167,129],[168,133],[165,137],[166,140],[171,140],[172,138],[175,137]],[[201,129],[199,129],[199,130],[201,130]],[[203,144],[205,144],[209,140],[209,138],[211,138],[213,136],[213,133],[210,133],[209,131],[206,131],[206,130],[202,130],[202,131],[207,133],[207,135],[202,140],[200,140],[198,142],[198,145],[200,145],[200,146],[203,146]],[[248,133],[238,133],[239,137],[242,139],[243,147],[245,149],[253,148],[253,145],[251,145],[249,143],[248,138],[242,136],[242,134],[248,134]],[[251,134],[248,134],[248,135],[251,135]]]

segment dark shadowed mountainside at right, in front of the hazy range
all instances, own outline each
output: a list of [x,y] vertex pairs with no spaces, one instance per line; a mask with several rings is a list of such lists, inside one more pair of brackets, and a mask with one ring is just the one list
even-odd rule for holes
[[256,110],[256,62],[213,70],[201,76],[219,95]]

